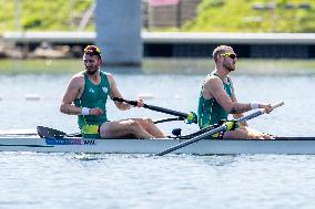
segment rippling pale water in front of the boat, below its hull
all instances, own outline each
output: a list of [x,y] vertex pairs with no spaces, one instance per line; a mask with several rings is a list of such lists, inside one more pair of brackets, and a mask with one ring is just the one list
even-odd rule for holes
[[314,206],[314,156],[0,155],[1,209]]

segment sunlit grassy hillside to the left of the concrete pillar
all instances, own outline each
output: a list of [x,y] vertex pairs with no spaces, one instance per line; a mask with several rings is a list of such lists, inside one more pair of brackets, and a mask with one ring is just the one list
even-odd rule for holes
[[[0,0],[0,32],[75,31],[83,12],[93,0],[20,0],[20,15],[17,2]],[[93,24],[85,30],[93,30]]]

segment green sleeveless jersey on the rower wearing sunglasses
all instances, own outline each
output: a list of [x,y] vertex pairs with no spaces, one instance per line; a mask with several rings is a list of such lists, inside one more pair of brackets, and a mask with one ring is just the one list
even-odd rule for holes
[[[216,75],[215,73],[210,74]],[[220,77],[221,79],[221,77]],[[224,90],[231,97],[232,95],[232,86],[230,79],[226,76],[226,82],[223,82]],[[199,126],[200,128],[205,128],[210,125],[219,124],[222,119],[227,119],[227,113],[224,111],[224,108],[216,102],[215,98],[205,100],[202,95],[202,92],[200,94],[199,98],[199,107],[197,107],[197,118],[199,118]]]

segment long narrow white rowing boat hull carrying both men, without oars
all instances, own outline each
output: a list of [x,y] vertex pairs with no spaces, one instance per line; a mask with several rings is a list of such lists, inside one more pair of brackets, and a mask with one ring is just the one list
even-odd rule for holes
[[[89,139],[81,137],[39,137],[19,134],[0,136],[1,151],[155,154],[183,139]],[[174,154],[281,154],[315,155],[315,137],[277,137],[272,140],[202,139]]]

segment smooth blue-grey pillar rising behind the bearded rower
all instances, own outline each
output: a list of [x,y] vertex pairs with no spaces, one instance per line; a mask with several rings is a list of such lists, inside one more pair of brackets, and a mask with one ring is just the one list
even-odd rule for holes
[[105,64],[141,64],[141,0],[96,1],[96,45],[102,50]]

